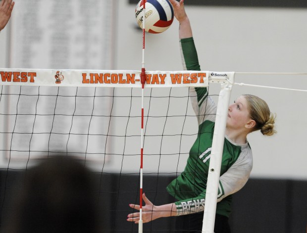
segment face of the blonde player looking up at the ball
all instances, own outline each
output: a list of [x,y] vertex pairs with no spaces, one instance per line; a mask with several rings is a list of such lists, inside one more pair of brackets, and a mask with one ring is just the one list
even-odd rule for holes
[[241,95],[233,104],[229,105],[227,127],[231,129],[241,129],[251,120],[248,102],[246,98]]

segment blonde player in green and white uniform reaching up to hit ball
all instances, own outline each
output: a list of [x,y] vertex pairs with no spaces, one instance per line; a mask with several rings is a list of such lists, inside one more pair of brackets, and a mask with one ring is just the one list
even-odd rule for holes
[[[184,68],[200,70],[192,29],[183,0],[170,0],[179,21],[179,37]],[[178,216],[177,230],[183,233],[202,231],[208,165],[211,152],[216,106],[206,88],[190,90],[193,109],[198,116],[199,132],[194,142],[184,172],[173,180],[167,191],[178,201],[155,206],[143,194],[143,223],[161,217]],[[229,233],[228,217],[231,212],[231,194],[247,182],[253,166],[251,147],[247,135],[260,130],[263,135],[273,135],[274,116],[262,99],[254,95],[239,96],[228,108],[226,135],[222,155],[214,233]],[[139,205],[130,204],[140,209]],[[139,212],[128,215],[128,221],[138,223]],[[179,221],[178,221],[179,220]],[[178,223],[178,224],[177,224]]]

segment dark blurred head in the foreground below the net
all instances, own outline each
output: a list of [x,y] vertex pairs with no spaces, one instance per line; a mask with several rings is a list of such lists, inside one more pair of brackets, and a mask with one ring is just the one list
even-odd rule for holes
[[9,233],[96,233],[91,173],[77,160],[56,156],[26,173]]

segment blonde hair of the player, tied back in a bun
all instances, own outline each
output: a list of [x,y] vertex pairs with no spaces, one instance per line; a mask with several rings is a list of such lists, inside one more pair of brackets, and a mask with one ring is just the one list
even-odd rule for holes
[[276,133],[274,130],[276,115],[270,112],[267,103],[252,94],[243,95],[248,102],[250,117],[256,121],[253,131],[260,130],[262,135],[271,136]]

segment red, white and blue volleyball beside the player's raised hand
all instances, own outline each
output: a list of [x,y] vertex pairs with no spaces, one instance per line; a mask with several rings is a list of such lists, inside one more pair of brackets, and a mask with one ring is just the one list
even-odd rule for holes
[[[168,0],[146,0],[145,4],[145,31],[161,33],[167,30],[174,20],[174,10],[171,3]],[[137,23],[142,29],[143,5],[144,0],[140,0],[135,9]]]

